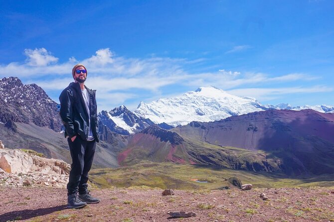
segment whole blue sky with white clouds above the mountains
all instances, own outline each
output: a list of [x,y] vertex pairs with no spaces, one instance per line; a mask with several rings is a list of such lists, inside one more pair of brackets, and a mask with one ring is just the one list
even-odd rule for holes
[[332,0],[0,0],[0,78],[56,102],[83,63],[99,110],[202,86],[334,106]]

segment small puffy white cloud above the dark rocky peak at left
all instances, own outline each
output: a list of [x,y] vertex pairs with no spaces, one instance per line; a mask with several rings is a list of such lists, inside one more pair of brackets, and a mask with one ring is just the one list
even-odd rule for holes
[[27,56],[26,62],[29,66],[47,66],[58,61],[58,58],[51,55],[45,48],[24,49],[24,54]]

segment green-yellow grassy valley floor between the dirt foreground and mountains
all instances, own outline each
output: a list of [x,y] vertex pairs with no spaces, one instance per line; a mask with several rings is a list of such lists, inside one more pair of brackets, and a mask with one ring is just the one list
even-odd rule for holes
[[[230,186],[230,177],[239,178],[243,184],[259,188],[334,186],[334,174],[308,178],[286,178],[283,174],[231,170],[207,165],[186,165],[173,163],[139,164],[117,169],[95,169],[90,180],[100,188],[149,186],[162,189],[218,189]],[[207,183],[199,183],[194,180]]]

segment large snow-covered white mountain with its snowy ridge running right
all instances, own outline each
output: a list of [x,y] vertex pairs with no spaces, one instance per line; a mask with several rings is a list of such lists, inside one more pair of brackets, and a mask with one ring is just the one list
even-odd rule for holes
[[134,111],[138,116],[150,118],[155,123],[166,122],[169,125],[185,125],[191,121],[208,122],[233,115],[254,111],[305,110],[333,112],[330,106],[291,107],[289,104],[262,105],[251,97],[239,97],[214,87],[200,87],[194,92],[187,92],[180,97],[160,99],[145,104],[141,102]]

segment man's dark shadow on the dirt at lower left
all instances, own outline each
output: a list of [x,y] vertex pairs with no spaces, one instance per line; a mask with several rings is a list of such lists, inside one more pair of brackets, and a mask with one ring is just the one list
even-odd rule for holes
[[60,205],[56,207],[40,208],[36,210],[13,211],[0,215],[0,222],[6,222],[12,220],[28,220],[30,218],[51,214],[53,212],[62,211],[65,209],[66,205]]

